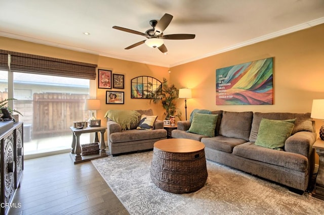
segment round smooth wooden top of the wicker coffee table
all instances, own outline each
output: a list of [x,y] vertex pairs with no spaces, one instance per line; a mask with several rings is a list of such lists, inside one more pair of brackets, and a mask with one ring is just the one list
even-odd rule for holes
[[197,140],[172,138],[155,142],[154,148],[171,153],[188,153],[204,149],[205,145]]

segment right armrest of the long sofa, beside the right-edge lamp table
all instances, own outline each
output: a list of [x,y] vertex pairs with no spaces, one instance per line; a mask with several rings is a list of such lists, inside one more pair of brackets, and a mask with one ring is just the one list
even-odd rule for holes
[[285,151],[297,153],[309,158],[312,154],[312,146],[316,141],[316,133],[309,131],[296,132],[285,142]]

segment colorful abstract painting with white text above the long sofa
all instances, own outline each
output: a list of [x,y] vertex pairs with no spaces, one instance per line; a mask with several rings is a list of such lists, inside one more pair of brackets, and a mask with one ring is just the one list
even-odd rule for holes
[[217,69],[216,104],[273,104],[273,58]]

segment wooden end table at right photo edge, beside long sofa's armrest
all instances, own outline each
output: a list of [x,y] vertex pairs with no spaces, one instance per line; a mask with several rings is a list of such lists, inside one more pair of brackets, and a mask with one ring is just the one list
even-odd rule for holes
[[315,190],[312,196],[324,200],[324,140],[318,138],[313,145],[319,156],[318,172],[316,177]]

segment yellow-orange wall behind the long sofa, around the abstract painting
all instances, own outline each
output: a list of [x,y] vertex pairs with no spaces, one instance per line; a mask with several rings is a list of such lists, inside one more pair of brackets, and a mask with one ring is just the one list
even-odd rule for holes
[[[170,68],[176,87],[192,89],[195,108],[224,111],[311,112],[324,98],[324,24]],[[273,105],[216,105],[216,69],[273,57]],[[178,100],[184,112],[184,99]],[[316,120],[317,130],[323,124]]]

